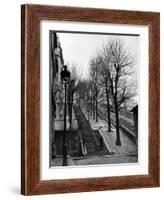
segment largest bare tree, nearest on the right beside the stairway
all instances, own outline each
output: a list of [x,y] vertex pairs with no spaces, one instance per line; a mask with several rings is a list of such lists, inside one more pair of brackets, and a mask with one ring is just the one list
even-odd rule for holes
[[103,51],[105,59],[108,60],[107,76],[110,81],[116,117],[116,145],[120,146],[119,110],[123,103],[135,93],[136,85],[131,79],[135,58],[126,50],[125,44],[120,40],[109,41]]

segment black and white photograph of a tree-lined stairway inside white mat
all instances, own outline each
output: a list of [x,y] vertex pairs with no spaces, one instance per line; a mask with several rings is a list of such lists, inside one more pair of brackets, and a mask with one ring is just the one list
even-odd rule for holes
[[138,163],[139,39],[49,31],[50,167]]

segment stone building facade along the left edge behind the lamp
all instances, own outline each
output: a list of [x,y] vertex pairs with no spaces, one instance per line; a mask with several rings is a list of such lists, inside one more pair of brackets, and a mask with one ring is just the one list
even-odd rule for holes
[[64,65],[63,52],[56,32],[50,31],[50,141],[51,158],[56,156],[55,125],[63,117],[63,85],[60,73]]

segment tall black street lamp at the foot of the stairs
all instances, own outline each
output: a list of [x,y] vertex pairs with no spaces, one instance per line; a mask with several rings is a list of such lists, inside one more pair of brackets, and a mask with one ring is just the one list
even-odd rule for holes
[[63,166],[67,166],[67,141],[66,141],[66,118],[67,118],[67,84],[70,81],[70,72],[67,69],[67,65],[63,66],[63,70],[61,71],[61,80],[62,83],[64,84],[64,89],[65,89],[65,106],[64,106],[64,133],[63,133]]

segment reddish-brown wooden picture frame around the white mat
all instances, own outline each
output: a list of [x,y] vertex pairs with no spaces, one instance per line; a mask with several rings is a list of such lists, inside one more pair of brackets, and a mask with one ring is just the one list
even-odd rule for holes
[[[160,14],[156,12],[21,6],[21,193],[87,192],[160,185]],[[40,180],[40,22],[63,20],[149,27],[149,138],[147,175]]]

